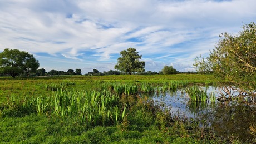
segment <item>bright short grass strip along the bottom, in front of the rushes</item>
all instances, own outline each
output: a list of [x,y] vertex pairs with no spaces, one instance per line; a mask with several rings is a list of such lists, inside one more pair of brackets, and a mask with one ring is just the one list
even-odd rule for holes
[[9,143],[193,143],[217,140],[211,137],[211,140],[203,140],[201,136],[205,133],[189,135],[185,127],[191,126],[183,123],[176,125],[184,127],[183,130],[173,126],[165,131],[139,123],[130,124],[129,129],[122,129],[122,124],[87,128],[77,123],[52,121],[46,116],[29,115],[2,118],[0,124],[1,142]]

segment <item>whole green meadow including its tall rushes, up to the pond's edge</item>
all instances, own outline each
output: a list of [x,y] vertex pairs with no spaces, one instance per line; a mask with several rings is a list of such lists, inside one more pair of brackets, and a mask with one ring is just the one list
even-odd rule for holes
[[218,82],[213,75],[193,74],[1,77],[0,142],[255,142],[255,127],[248,141],[221,137],[199,120],[171,115],[150,98],[194,85]]

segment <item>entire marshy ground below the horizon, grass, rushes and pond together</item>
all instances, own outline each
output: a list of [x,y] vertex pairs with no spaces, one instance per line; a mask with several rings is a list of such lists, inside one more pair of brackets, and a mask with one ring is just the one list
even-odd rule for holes
[[255,106],[218,101],[213,75],[0,79],[4,143],[256,142]]

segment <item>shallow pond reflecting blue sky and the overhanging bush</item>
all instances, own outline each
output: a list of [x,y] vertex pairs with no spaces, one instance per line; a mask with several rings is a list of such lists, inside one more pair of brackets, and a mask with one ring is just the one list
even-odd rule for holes
[[[207,88],[207,93],[220,95],[216,87]],[[202,127],[211,126],[216,135],[221,137],[237,136],[242,140],[249,139],[250,126],[256,126],[256,107],[240,102],[191,102],[185,90],[166,92],[152,97],[161,108],[168,108],[173,116],[194,118]]]

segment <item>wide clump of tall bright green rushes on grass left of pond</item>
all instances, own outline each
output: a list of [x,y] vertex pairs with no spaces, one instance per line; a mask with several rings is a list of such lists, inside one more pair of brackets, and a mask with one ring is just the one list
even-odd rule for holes
[[86,125],[112,125],[124,120],[126,105],[118,105],[119,96],[109,90],[67,91],[57,90],[52,96],[36,97],[29,103],[36,106],[38,115],[52,112],[62,121],[76,118]]

